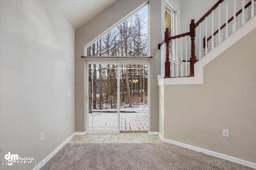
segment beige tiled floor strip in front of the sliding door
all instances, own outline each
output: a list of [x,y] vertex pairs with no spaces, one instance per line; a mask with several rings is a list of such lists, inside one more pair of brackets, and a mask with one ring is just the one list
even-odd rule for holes
[[68,143],[163,143],[158,135],[141,133],[75,135]]

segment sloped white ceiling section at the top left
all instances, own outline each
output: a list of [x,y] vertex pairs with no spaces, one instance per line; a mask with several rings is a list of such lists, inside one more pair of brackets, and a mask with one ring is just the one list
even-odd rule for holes
[[70,24],[77,29],[116,0],[52,0]]

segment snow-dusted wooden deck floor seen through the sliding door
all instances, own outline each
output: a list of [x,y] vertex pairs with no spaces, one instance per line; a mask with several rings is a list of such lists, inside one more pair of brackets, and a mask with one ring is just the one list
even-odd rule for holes
[[[89,131],[117,131],[117,119],[117,113],[89,113]],[[120,131],[147,130],[148,113],[120,113]]]

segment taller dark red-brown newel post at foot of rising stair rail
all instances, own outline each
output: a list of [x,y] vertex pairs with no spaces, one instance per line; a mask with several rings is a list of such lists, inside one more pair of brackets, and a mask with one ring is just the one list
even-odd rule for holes
[[195,55],[195,37],[196,37],[196,28],[195,28],[195,20],[191,20],[190,23],[190,38],[191,38],[191,57],[190,57],[190,75],[194,76],[194,64],[196,63],[196,55]]

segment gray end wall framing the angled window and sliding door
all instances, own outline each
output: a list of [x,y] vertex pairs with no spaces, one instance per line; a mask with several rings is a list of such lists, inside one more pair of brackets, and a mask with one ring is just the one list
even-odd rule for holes
[[[75,112],[76,131],[86,131],[86,105],[85,105],[85,70],[84,46],[96,39],[99,35],[116,25],[128,14],[144,4],[146,0],[117,0],[108,8],[97,14],[94,18],[76,29],[75,38]],[[157,74],[160,73],[160,50],[158,43],[161,42],[161,10],[162,1],[150,0],[150,55],[154,58],[150,61],[150,113],[151,129],[158,131],[158,88]]]

